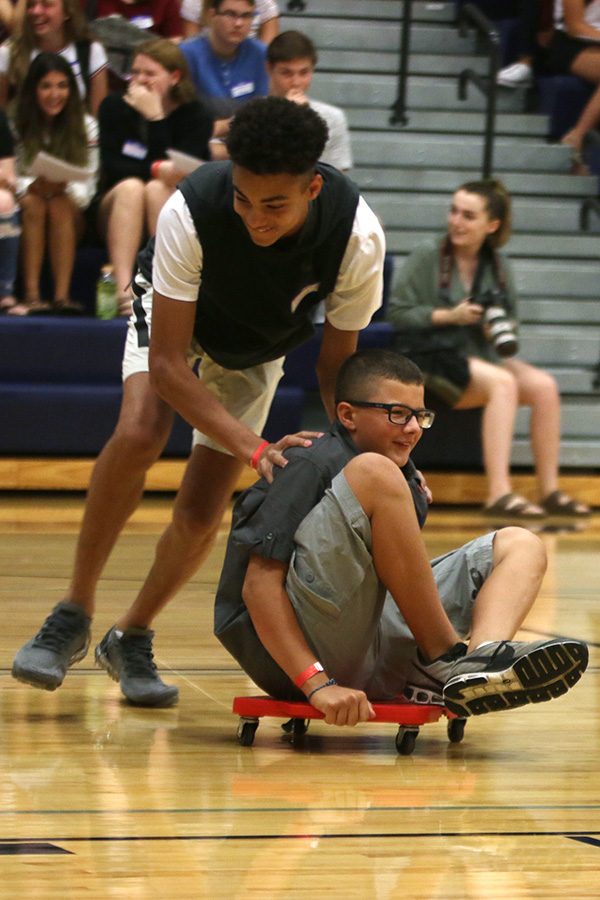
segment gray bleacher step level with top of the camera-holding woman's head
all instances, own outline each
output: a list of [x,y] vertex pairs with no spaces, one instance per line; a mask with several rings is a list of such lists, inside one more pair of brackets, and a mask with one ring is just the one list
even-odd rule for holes
[[[597,190],[597,179],[556,172],[511,172],[500,168],[496,173],[513,196],[562,196],[583,198]],[[385,164],[357,165],[352,178],[363,190],[414,191],[419,194],[454,191],[463,181],[480,177],[479,166],[457,171],[456,169],[425,169],[412,166]]]

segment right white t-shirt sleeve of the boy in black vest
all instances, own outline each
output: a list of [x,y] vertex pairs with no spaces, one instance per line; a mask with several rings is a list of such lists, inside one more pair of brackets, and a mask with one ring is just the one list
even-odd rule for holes
[[335,328],[360,331],[369,324],[381,306],[384,256],[379,219],[360,197],[335,288],[325,299],[325,318]]

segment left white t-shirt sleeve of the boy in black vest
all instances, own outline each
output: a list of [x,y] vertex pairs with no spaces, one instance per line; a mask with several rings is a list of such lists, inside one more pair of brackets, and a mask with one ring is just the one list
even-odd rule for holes
[[164,297],[195,303],[202,274],[202,247],[181,191],[169,197],[158,217],[152,286]]

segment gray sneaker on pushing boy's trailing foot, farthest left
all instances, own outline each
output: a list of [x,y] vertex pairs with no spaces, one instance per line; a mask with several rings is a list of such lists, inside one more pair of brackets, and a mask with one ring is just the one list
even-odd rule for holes
[[55,691],[67,669],[83,659],[90,645],[91,619],[68,600],[57,603],[38,633],[15,656],[12,676],[17,681]]

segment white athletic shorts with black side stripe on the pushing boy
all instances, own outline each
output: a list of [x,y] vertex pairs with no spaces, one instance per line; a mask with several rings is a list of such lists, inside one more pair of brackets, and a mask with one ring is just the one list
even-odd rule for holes
[[[144,289],[144,294],[136,301],[129,318],[123,355],[123,381],[130,375],[149,371],[152,287],[139,273],[136,285]],[[188,353],[188,364],[198,373],[202,383],[227,412],[256,434],[261,434],[267,421],[277,385],[283,375],[283,363],[284,359],[281,357],[248,369],[224,369],[197,344],[190,347]],[[201,444],[231,456],[229,450],[196,430],[192,443],[193,446]]]

